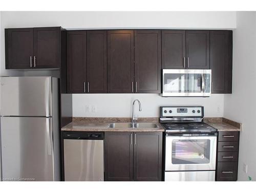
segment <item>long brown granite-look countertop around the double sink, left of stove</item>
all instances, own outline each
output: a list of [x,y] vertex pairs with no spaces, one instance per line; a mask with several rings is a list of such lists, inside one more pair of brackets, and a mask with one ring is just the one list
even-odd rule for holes
[[140,123],[156,123],[157,128],[109,128],[110,123],[131,123],[130,118],[80,118],[75,117],[73,121],[61,128],[61,131],[79,132],[164,132],[164,128],[158,118],[140,118]]

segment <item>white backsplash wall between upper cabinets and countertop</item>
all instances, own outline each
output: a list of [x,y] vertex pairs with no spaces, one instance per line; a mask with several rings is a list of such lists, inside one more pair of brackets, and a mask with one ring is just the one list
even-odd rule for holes
[[[159,117],[159,106],[204,106],[205,117],[223,117],[224,95],[210,97],[161,97],[159,94],[73,94],[73,117],[131,117],[132,102],[139,117]],[[93,106],[96,111],[93,112]],[[89,108],[90,111],[87,111]]]

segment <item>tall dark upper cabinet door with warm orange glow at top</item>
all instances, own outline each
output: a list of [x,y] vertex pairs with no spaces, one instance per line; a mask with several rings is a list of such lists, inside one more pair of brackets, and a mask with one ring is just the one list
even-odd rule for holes
[[132,93],[134,31],[108,31],[108,92]]

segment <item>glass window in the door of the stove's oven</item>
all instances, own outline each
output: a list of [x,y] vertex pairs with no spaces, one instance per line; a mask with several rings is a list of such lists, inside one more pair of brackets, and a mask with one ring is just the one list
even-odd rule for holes
[[207,164],[210,162],[210,140],[173,140],[173,164]]

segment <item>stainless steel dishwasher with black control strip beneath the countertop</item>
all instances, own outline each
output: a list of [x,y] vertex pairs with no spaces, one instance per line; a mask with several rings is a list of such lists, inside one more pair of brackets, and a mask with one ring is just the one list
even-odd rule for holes
[[103,132],[63,132],[65,181],[103,181]]

